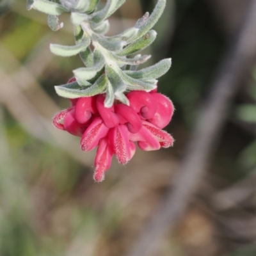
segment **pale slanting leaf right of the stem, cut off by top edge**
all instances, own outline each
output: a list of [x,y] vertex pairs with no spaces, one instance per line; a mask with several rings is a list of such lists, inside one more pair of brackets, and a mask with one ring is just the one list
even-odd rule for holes
[[108,0],[106,6],[100,10],[99,12],[96,12],[93,17],[93,22],[100,22],[102,20],[108,19],[108,17],[113,14],[122,4],[125,3],[125,0]]

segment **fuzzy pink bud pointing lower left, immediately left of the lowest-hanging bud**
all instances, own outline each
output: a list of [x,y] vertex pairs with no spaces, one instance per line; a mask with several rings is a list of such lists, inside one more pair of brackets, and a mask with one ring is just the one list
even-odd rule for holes
[[108,127],[104,125],[102,118],[95,117],[81,138],[81,148],[84,151],[97,147],[99,140],[108,134]]

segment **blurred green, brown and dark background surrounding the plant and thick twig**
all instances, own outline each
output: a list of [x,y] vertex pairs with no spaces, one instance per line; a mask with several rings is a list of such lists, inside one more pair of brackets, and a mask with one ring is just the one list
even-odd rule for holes
[[[68,15],[60,17],[64,28],[52,32],[47,16],[28,12],[25,0],[0,0],[1,256],[121,256],[129,250],[175,182],[198,107],[248,3],[168,0],[147,52],[153,55],[148,65],[173,61],[159,91],[175,104],[166,128],[175,145],[158,152],[138,149],[127,166],[114,160],[97,184],[95,152],[81,152],[79,138],[51,124],[69,106],[54,85],[66,83],[82,66],[79,56],[60,58],[49,51],[50,42],[74,44]],[[109,35],[133,26],[154,4],[127,0],[109,20]],[[256,255],[256,68],[248,73],[204,180],[175,230],[159,241],[157,256]]]

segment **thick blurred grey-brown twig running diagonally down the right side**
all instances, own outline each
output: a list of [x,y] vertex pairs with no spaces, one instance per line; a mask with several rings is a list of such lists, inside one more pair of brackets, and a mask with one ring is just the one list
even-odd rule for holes
[[172,230],[188,207],[207,167],[207,160],[216,148],[228,108],[236,95],[244,74],[250,71],[256,50],[256,1],[248,6],[243,26],[221,63],[195,132],[189,141],[184,159],[177,170],[175,185],[168,191],[162,204],[154,212],[147,227],[136,240],[127,256],[149,256],[156,251],[156,241],[167,230]]

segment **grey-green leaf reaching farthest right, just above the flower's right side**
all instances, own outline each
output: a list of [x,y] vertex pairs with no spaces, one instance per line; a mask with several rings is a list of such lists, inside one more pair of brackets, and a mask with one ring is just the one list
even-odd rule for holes
[[157,79],[166,74],[171,65],[172,59],[164,59],[148,68],[143,68],[138,71],[125,70],[124,72],[134,79]]

